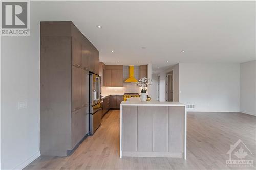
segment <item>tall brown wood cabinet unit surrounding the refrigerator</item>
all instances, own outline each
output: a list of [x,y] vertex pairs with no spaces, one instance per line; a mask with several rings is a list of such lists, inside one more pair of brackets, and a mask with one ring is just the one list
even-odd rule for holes
[[40,41],[40,152],[67,156],[89,132],[99,53],[72,22],[41,22]]

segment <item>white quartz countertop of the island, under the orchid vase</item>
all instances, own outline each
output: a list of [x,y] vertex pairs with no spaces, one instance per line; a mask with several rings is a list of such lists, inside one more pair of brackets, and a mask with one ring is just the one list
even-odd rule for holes
[[121,106],[186,106],[180,102],[159,102],[159,101],[122,101]]

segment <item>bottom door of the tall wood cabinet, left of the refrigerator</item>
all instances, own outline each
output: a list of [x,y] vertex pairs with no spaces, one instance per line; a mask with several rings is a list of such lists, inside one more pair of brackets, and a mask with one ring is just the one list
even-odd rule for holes
[[86,135],[86,107],[72,112],[71,119],[71,147],[73,149]]

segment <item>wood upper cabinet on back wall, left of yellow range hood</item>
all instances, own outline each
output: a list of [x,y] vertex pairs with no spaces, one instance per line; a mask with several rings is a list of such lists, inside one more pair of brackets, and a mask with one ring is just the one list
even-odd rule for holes
[[123,86],[123,66],[106,65],[106,86],[122,87]]

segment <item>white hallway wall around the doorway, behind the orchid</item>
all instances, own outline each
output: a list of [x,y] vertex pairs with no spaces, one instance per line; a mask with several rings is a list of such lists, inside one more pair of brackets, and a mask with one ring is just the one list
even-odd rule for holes
[[170,71],[173,71],[174,74],[174,87],[173,87],[173,95],[174,95],[174,101],[179,101],[179,64],[176,64],[172,67],[169,67],[168,69],[162,71],[159,73],[160,76],[160,90],[159,90],[159,100],[165,101],[165,91],[166,91],[166,74]]

